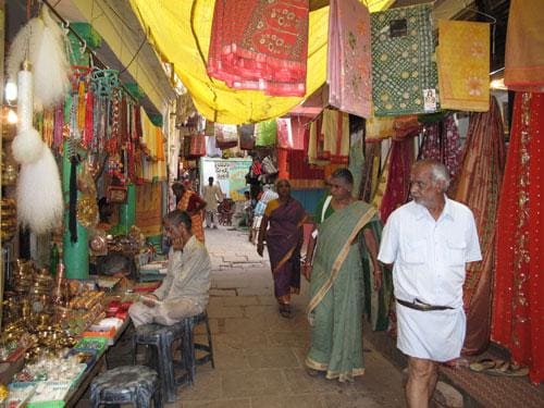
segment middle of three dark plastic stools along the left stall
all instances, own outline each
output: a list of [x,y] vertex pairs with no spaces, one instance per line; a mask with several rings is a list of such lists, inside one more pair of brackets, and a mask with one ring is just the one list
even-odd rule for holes
[[136,363],[136,348],[138,345],[156,348],[156,368],[160,374],[162,390],[168,403],[175,401],[177,385],[174,379],[172,343],[181,338],[184,332],[182,323],[174,325],[149,323],[137,327],[133,336],[133,363]]

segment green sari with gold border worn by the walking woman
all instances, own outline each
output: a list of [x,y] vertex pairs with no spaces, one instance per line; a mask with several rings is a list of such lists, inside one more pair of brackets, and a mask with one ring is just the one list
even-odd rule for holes
[[368,223],[378,222],[375,213],[372,206],[356,201],[335,211],[319,226],[310,281],[311,333],[306,364],[326,371],[327,379],[351,381],[364,373],[363,258],[357,236]]

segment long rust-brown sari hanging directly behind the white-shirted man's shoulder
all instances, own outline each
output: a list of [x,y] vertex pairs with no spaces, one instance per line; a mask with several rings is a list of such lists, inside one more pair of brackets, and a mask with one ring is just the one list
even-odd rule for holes
[[490,112],[473,113],[459,174],[452,187],[455,200],[473,212],[483,260],[467,269],[462,289],[467,314],[463,355],[487,348],[491,334],[491,285],[495,272],[495,221],[505,168],[506,146],[503,120],[495,98]]

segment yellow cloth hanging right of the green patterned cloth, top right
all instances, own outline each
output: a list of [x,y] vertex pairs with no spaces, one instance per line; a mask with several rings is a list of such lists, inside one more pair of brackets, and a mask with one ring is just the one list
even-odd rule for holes
[[438,20],[442,109],[490,110],[490,24]]

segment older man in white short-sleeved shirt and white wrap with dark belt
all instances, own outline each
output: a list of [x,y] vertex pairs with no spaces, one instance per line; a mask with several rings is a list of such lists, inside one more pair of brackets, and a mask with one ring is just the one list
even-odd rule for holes
[[482,255],[472,211],[446,197],[446,168],[435,160],[418,161],[410,183],[413,200],[387,219],[378,259],[394,264],[397,347],[408,356],[408,407],[425,408],[438,363],[460,355],[465,271]]

